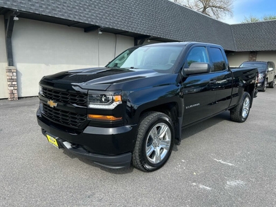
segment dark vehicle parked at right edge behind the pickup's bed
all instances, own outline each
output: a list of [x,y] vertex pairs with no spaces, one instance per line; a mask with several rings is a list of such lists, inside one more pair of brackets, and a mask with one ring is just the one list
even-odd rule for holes
[[274,88],[276,81],[276,69],[273,61],[245,61],[239,67],[255,67],[258,69],[258,90],[266,91],[267,84],[269,88]]

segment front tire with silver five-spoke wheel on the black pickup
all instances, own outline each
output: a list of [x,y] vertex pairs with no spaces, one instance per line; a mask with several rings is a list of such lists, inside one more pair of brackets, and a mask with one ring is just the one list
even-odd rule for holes
[[161,112],[146,112],[141,117],[132,164],[152,172],[164,166],[174,143],[175,133],[170,117]]

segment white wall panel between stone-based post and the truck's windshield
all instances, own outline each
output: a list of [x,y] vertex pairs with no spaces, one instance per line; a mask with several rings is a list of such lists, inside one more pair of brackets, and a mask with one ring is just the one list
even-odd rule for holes
[[[122,43],[117,51],[133,46],[132,38],[118,37]],[[12,48],[19,97],[29,97],[37,95],[44,75],[105,66],[115,56],[115,34],[20,18],[14,24]]]

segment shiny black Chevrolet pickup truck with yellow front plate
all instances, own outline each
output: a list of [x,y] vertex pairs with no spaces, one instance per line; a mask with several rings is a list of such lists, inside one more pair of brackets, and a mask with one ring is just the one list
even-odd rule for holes
[[157,43],[106,67],[59,72],[39,83],[37,121],[50,144],[108,168],[164,166],[181,130],[230,110],[248,118],[257,68],[230,69],[221,46]]

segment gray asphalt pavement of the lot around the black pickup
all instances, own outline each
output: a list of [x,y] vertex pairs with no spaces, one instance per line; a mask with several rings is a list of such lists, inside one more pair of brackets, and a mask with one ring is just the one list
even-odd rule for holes
[[155,172],[108,169],[48,143],[37,97],[0,100],[0,206],[276,206],[276,88],[247,121],[224,112],[183,130]]

